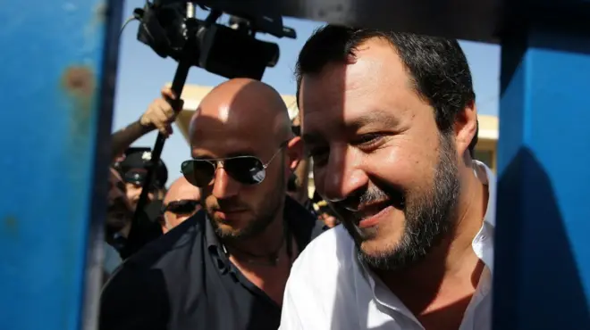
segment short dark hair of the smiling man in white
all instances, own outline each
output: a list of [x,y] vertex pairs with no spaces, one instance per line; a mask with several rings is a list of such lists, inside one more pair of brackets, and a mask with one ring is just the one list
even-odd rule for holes
[[[476,102],[467,58],[455,39],[326,25],[309,37],[299,53],[295,67],[298,105],[303,75],[319,74],[328,63],[350,62],[358,45],[374,37],[393,45],[414,80],[417,94],[434,107],[439,130],[449,133],[457,114]],[[471,155],[476,143],[477,132],[469,144]]]

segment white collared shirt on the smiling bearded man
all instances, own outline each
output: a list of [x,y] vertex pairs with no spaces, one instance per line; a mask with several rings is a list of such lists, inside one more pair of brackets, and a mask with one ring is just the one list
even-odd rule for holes
[[[485,269],[459,330],[487,330],[492,321],[496,183],[484,163],[474,161],[474,172],[489,192],[483,225],[471,244]],[[403,302],[363,267],[342,226],[317,237],[299,255],[282,303],[281,330],[424,330]]]

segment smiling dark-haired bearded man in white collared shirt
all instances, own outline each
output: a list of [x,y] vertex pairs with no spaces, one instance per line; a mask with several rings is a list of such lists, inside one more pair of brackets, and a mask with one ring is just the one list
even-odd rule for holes
[[293,265],[281,329],[490,329],[495,178],[472,158],[457,40],[329,25],[296,68],[316,189],[343,226]]

